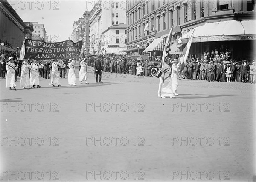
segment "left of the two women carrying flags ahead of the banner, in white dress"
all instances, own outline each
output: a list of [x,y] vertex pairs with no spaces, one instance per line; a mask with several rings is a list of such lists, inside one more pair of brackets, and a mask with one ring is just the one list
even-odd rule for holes
[[161,98],[175,98],[172,91],[172,78],[170,74],[172,73],[171,67],[168,65],[170,58],[166,59],[161,69],[162,75],[160,77],[159,88],[158,88],[158,97]]

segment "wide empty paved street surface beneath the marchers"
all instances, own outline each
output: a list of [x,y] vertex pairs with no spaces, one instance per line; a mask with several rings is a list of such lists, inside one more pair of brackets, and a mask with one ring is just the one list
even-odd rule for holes
[[157,78],[103,73],[96,84],[89,71],[89,85],[77,70],[77,86],[66,77],[61,88],[18,78],[9,91],[1,79],[3,181],[255,178],[255,85],[182,80],[161,99]]

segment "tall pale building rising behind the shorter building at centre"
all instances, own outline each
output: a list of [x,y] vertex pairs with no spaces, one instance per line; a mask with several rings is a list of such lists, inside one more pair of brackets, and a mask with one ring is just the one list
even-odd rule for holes
[[[126,0],[99,0],[91,10],[90,15],[90,53],[100,54],[108,48],[108,43],[105,41],[103,45],[103,35],[105,32],[112,32],[111,26],[126,24]],[[122,26],[119,26],[121,28]],[[108,29],[110,29],[108,31]],[[115,39],[116,34],[111,39]],[[108,35],[112,36],[112,35]],[[118,35],[117,35],[118,36]],[[106,37],[106,35],[105,35]],[[115,43],[116,44],[116,43]],[[119,45],[120,46],[120,45]],[[113,48],[113,51],[116,48]]]

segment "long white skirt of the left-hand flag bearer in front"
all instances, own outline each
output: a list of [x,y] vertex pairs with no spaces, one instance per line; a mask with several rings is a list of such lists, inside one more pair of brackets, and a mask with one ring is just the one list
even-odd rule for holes
[[162,76],[160,77],[158,97],[162,97],[162,96],[173,96],[171,77],[166,78],[164,80],[164,83],[163,83]]

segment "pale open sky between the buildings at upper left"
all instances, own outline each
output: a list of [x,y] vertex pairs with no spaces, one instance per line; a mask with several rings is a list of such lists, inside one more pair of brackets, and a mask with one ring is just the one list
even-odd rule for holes
[[[96,0],[8,0],[23,22],[43,23],[52,42],[67,40],[73,23],[91,10]],[[42,17],[44,19],[42,19]]]

